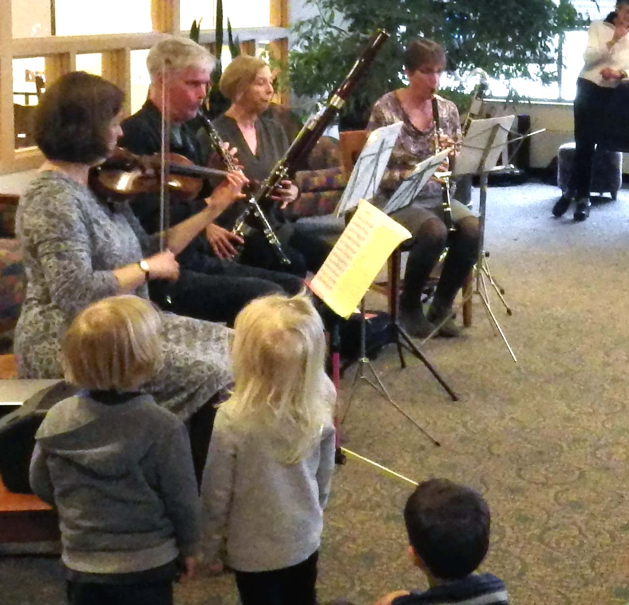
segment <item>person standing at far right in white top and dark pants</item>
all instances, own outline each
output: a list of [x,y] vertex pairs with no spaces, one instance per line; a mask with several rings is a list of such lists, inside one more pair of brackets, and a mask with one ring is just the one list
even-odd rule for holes
[[585,221],[589,217],[594,148],[597,143],[605,145],[601,139],[605,109],[614,89],[626,79],[629,70],[628,28],[629,0],[618,0],[613,21],[593,21],[587,31],[585,64],[577,80],[574,99],[574,163],[569,191],[552,209],[555,217],[562,216],[574,200],[574,220]]

